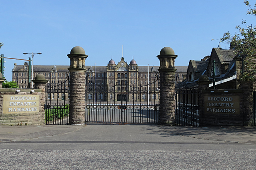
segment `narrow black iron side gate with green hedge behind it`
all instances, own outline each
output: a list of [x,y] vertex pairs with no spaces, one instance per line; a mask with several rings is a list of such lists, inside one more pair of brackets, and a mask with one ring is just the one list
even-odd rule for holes
[[46,86],[46,125],[67,125],[69,122],[69,72],[61,79],[50,73]]

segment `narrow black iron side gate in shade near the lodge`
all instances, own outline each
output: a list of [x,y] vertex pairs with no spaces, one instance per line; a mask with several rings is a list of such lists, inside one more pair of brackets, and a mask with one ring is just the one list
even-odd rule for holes
[[199,126],[198,85],[176,81],[175,125]]

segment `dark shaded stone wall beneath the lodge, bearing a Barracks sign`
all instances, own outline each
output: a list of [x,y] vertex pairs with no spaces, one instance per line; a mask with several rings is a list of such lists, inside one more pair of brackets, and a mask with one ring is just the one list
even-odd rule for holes
[[202,90],[200,126],[244,126],[244,90]]

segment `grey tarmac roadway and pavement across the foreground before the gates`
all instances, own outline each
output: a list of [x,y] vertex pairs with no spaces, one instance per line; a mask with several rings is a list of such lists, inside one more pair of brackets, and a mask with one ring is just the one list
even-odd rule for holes
[[1,127],[0,169],[256,169],[256,127]]

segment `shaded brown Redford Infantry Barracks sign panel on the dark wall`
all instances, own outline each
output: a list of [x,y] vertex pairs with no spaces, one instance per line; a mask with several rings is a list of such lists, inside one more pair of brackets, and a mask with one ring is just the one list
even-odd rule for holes
[[239,96],[204,96],[206,113],[239,114]]

